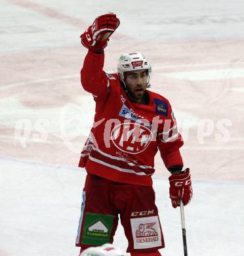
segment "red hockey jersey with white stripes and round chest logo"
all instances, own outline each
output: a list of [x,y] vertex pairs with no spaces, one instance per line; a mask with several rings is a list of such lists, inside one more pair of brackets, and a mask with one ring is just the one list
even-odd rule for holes
[[149,90],[148,105],[131,102],[117,74],[106,74],[103,66],[104,54],[87,53],[81,84],[93,95],[96,114],[79,167],[111,181],[152,186],[158,149],[167,168],[183,165],[171,104]]

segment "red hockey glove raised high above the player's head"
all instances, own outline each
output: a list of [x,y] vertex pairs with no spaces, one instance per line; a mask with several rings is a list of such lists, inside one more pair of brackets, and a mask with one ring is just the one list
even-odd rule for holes
[[81,35],[81,43],[93,52],[99,52],[108,45],[109,37],[119,26],[116,14],[98,16],[92,26]]

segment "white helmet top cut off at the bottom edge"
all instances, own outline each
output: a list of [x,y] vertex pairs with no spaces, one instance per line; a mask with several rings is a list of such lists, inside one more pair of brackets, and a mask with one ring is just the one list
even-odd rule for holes
[[80,256],[126,256],[121,249],[112,244],[104,244],[97,247],[85,249]]

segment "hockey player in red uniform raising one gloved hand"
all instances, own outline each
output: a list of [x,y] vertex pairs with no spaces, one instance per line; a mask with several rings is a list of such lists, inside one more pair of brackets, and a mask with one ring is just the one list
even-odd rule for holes
[[104,48],[119,26],[109,13],[98,16],[82,35],[88,49],[81,84],[96,104],[94,124],[81,152],[87,170],[76,245],[81,251],[113,242],[118,215],[132,256],[160,255],[163,233],[152,187],[159,150],[171,173],[173,207],[192,198],[190,170],[182,171],[183,145],[169,101],[149,91],[151,66],[140,53],[122,54],[117,74],[106,74]]

